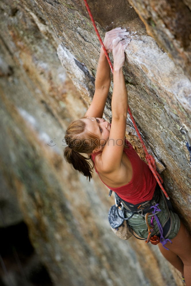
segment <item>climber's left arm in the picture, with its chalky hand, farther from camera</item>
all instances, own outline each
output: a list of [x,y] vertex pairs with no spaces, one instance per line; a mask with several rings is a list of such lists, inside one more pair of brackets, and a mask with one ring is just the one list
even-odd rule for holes
[[[125,39],[127,35],[128,32],[126,32],[126,29],[121,29],[120,27],[107,32],[104,39],[104,45],[107,52],[109,53],[112,51],[112,42],[114,39],[118,38],[118,41],[120,41]],[[102,118],[111,83],[110,72],[110,65],[104,50],[101,47],[95,77],[95,93],[91,105],[85,114],[86,116]]]

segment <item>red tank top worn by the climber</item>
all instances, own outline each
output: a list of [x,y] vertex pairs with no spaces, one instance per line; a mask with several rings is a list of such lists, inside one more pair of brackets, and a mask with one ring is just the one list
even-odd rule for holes
[[[122,198],[123,200],[130,202],[132,204],[138,204],[147,200],[151,200],[155,191],[157,181],[149,169],[148,165],[141,160],[137,152],[134,150],[132,145],[128,140],[126,140],[126,145],[129,146],[129,149],[124,148],[123,152],[128,156],[133,170],[132,179],[130,182],[124,186],[118,188],[111,188],[103,183],[110,189],[113,190]],[[91,153],[91,158],[94,162],[95,168],[95,156],[101,153]],[[95,168],[95,171],[98,171]],[[98,173],[99,175],[99,173]],[[101,179],[101,178],[100,178]],[[102,179],[101,179],[102,180]]]

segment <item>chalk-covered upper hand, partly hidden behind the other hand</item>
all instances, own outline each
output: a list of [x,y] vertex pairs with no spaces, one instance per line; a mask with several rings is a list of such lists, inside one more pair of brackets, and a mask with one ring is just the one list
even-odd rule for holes
[[129,32],[127,32],[126,29],[122,29],[121,27],[108,31],[104,38],[104,46],[107,52],[108,53],[112,52],[114,39],[118,39],[118,41],[120,41],[122,39],[126,39],[128,35],[129,35]]

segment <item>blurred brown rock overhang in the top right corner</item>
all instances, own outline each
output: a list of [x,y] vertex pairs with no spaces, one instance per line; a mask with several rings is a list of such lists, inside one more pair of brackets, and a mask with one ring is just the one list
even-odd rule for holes
[[133,6],[144,22],[147,33],[167,51],[171,59],[191,77],[190,1],[134,1]]

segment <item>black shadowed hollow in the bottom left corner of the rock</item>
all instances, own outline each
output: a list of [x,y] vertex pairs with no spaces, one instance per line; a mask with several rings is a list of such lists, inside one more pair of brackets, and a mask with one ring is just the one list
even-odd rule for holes
[[[32,247],[24,222],[0,228],[2,286],[53,286],[46,268]],[[7,281],[7,282],[6,282]]]

